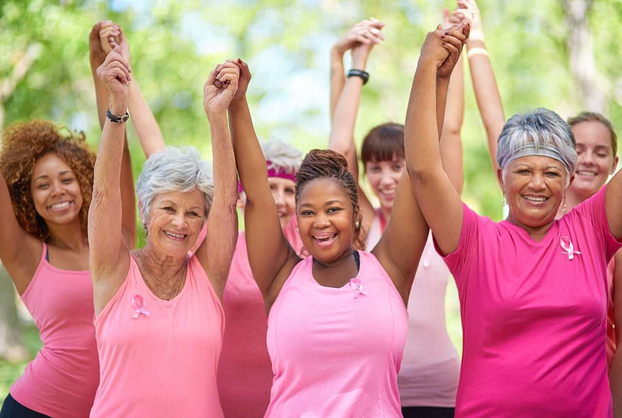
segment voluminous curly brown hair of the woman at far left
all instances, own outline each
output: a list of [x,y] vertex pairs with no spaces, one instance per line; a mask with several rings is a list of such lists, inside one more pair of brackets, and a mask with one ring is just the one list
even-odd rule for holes
[[13,211],[19,225],[41,241],[50,237],[50,231],[35,210],[30,177],[37,159],[50,153],[65,161],[80,183],[80,221],[86,233],[88,207],[93,193],[95,153],[86,144],[84,132],[72,132],[50,121],[15,123],[2,131],[0,169],[9,188]]

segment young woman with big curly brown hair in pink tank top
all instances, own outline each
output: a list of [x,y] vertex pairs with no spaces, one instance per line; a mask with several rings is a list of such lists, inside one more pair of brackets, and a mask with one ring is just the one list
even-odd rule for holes
[[[93,405],[99,364],[86,218],[94,163],[81,132],[45,121],[2,132],[0,258],[43,343],[11,386],[2,418],[86,417]],[[129,156],[119,165],[126,164]],[[120,187],[132,190],[131,177]],[[121,232],[133,243],[133,201],[127,204]]]

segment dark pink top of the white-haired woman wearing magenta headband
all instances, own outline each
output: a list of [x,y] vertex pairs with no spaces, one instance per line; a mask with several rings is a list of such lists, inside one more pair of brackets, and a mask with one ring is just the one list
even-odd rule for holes
[[[302,248],[296,217],[283,230]],[[266,346],[266,305],[248,264],[246,238],[239,231],[223,295],[227,325],[218,363],[218,394],[226,417],[263,417],[270,402],[272,363]]]

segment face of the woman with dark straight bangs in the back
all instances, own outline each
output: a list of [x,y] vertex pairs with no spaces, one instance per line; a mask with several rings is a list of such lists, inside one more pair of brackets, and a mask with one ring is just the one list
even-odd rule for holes
[[403,158],[394,158],[392,161],[368,161],[365,163],[365,175],[371,189],[378,197],[380,205],[392,208],[397,191],[397,183],[402,177],[406,162]]

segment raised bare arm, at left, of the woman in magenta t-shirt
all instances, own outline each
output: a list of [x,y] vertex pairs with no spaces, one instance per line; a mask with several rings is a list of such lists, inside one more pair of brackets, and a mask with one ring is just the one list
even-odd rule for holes
[[468,22],[449,30],[439,25],[425,38],[404,129],[406,167],[414,194],[443,255],[458,246],[463,212],[460,195],[443,171],[440,159],[437,72],[446,73],[447,67],[455,66],[455,50],[462,49],[468,29]]

